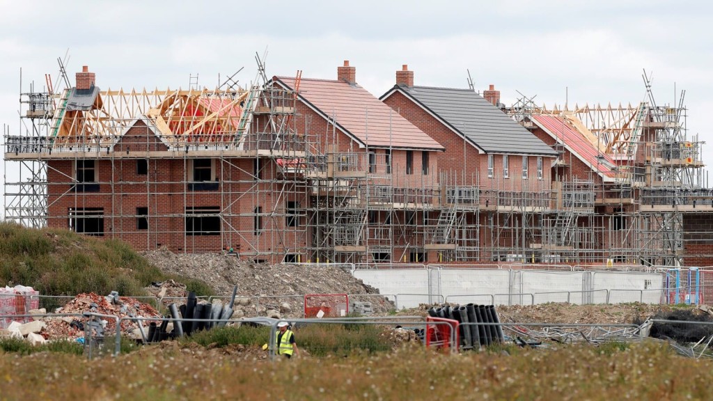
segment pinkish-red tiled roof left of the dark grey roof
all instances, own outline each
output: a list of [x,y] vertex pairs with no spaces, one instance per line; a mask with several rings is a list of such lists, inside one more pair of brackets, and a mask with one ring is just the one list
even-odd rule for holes
[[[294,88],[294,78],[276,76],[273,80]],[[434,138],[358,84],[302,78],[299,98],[324,118],[334,118],[339,129],[362,145],[443,150]]]

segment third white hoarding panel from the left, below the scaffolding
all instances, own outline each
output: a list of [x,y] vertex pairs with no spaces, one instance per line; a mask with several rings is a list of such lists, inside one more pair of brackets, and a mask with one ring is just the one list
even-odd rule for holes
[[[570,302],[582,303],[582,291],[585,283],[585,272],[519,270],[519,288],[513,292],[536,294],[533,303]],[[577,294],[572,295],[570,292]],[[575,298],[579,297],[579,300]],[[602,302],[604,302],[602,300]]]

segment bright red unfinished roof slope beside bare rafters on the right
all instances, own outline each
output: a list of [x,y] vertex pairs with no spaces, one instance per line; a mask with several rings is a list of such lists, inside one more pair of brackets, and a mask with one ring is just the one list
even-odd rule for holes
[[545,133],[555,138],[572,152],[575,157],[592,168],[592,171],[602,178],[615,178],[614,168],[616,162],[612,156],[597,150],[593,143],[588,141],[579,131],[575,130],[563,118],[544,114],[534,114],[532,121],[543,129]]

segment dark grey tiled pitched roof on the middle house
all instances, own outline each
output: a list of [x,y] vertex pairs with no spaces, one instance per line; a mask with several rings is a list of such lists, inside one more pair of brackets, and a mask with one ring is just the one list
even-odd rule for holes
[[486,153],[556,154],[546,143],[470,89],[396,85],[381,98],[388,97],[393,91],[401,91]]

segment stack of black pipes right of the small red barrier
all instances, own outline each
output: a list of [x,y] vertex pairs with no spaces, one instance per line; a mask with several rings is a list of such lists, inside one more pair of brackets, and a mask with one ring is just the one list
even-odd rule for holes
[[503,326],[493,305],[443,305],[429,309],[432,318],[457,320],[460,346],[477,350],[505,340]]

